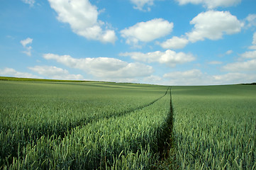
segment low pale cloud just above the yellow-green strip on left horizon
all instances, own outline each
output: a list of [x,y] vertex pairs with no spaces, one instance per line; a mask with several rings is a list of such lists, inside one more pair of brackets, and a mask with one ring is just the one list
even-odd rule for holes
[[82,80],[81,74],[69,74],[67,69],[62,69],[54,66],[35,66],[28,67],[28,69],[38,74],[49,77],[50,79],[65,79],[65,80]]

